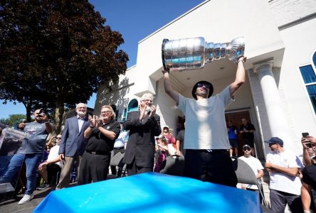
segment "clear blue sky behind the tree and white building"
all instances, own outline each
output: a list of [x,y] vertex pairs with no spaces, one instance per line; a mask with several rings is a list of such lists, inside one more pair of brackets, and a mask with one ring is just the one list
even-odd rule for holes
[[[106,18],[105,25],[113,31],[119,31],[125,40],[120,46],[130,58],[127,67],[136,64],[137,45],[147,35],[157,31],[181,14],[201,4],[204,0],[90,0]],[[189,28],[188,28],[189,31]],[[26,109],[21,103],[8,102],[2,104],[0,100],[0,119],[8,118],[9,114],[26,114]],[[95,94],[88,101],[88,107],[94,108]]]

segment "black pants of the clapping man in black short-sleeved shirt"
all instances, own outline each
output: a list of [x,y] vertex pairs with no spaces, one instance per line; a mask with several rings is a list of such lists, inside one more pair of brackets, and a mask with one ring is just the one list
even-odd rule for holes
[[94,155],[85,152],[80,160],[78,185],[107,179],[111,155]]

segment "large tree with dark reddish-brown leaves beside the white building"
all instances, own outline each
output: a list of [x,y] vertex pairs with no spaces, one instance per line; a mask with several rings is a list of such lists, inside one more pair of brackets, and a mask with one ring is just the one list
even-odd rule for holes
[[59,131],[64,107],[125,74],[122,35],[88,1],[0,2],[0,98],[22,102],[28,119],[32,107],[53,108]]

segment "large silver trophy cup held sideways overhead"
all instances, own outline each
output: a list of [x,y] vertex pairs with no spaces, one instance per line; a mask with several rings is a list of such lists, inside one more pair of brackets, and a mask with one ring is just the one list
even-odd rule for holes
[[162,41],[162,64],[164,70],[182,71],[204,67],[206,62],[228,59],[237,62],[245,52],[243,37],[231,43],[206,43],[203,37]]

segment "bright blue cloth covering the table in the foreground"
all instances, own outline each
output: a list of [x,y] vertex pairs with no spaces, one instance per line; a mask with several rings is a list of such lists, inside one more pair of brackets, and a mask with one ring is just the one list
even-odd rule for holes
[[51,192],[34,212],[262,212],[255,192],[143,173]]

